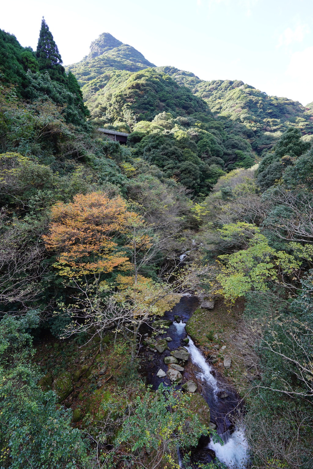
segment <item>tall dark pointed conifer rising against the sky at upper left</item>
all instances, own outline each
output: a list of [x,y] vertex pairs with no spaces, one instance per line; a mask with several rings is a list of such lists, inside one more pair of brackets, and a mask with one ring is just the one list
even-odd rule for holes
[[58,46],[53,40],[53,36],[44,17],[41,21],[36,56],[40,72],[47,71],[52,80],[63,84],[67,83],[67,76],[62,65],[63,62]]

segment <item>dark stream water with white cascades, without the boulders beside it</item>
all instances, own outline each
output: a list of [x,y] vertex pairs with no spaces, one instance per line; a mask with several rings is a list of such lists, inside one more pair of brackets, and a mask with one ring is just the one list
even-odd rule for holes
[[[210,408],[210,420],[216,425],[216,431],[224,444],[214,443],[212,439],[202,436],[196,448],[192,449],[192,461],[194,467],[197,463],[209,463],[217,460],[223,462],[228,469],[246,469],[248,464],[248,449],[243,428],[235,427],[231,422],[231,416],[238,415],[238,410],[242,410],[242,402],[238,393],[225,381],[222,373],[212,367],[205,359],[193,340],[186,334],[186,322],[198,307],[198,300],[193,296],[184,296],[171,311],[164,314],[162,319],[173,321],[172,325],[166,329],[166,333],[159,335],[158,339],[171,337],[168,342],[169,350],[163,353],[151,352],[148,347],[141,347],[142,373],[147,378],[147,384],[152,385],[156,390],[160,383],[170,386],[169,378],[158,378],[157,372],[162,369],[167,371],[168,366],[164,363],[164,357],[170,356],[171,350],[181,346],[190,353],[190,367],[186,365],[183,374],[183,383],[189,379],[194,379],[198,385],[198,392],[202,394]],[[174,320],[179,316],[180,322]],[[146,331],[145,331],[146,332]],[[151,328],[149,331],[151,332]],[[183,339],[188,337],[189,343],[186,345]],[[188,362],[187,362],[188,363]],[[191,369],[192,368],[192,369]],[[177,389],[181,385],[176,386]],[[183,467],[183,466],[182,466]]]

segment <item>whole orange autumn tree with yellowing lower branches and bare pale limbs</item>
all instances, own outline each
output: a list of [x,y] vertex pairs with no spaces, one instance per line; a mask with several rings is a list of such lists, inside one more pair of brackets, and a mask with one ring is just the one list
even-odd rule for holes
[[[134,360],[142,323],[179,301],[179,295],[139,273],[159,250],[151,231],[142,216],[127,210],[125,200],[101,192],[79,194],[69,204],[52,207],[45,245],[56,253],[54,267],[75,288],[74,303],[59,303],[59,311],[72,317],[64,337],[98,334],[102,348],[105,330],[115,326],[130,343]],[[124,274],[104,280],[102,274],[115,269]]]

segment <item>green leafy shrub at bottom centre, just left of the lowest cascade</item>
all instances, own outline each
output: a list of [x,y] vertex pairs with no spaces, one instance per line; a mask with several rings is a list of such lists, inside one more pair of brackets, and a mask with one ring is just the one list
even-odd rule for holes
[[[113,401],[112,398],[100,404],[95,422],[100,427],[96,437],[97,447],[101,448],[101,444],[107,441],[109,432],[116,435],[112,449],[105,453],[98,450],[98,460],[103,464],[102,467],[115,467],[122,457],[125,461],[132,461],[136,468],[179,469],[179,447],[186,456],[184,467],[189,469],[190,447],[197,446],[201,435],[209,434],[209,408],[204,399],[199,394],[182,394],[161,384],[156,393],[146,391],[143,395],[137,395],[131,403],[128,401],[128,408],[123,412],[125,404]],[[199,415],[195,412],[197,407],[202,408]],[[105,416],[104,422],[101,422],[101,415]],[[117,419],[116,415],[120,417]],[[103,431],[104,423],[106,426]],[[214,440],[220,441],[216,432],[212,433]],[[224,465],[219,467],[224,468]]]

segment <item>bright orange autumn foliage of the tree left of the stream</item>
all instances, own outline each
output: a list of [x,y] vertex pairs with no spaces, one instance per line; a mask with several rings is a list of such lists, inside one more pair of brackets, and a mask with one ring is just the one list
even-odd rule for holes
[[102,192],[78,194],[69,204],[55,204],[51,218],[44,241],[48,250],[57,252],[53,266],[60,275],[77,278],[131,267],[115,238],[138,215],[127,211],[121,197],[110,199]]

